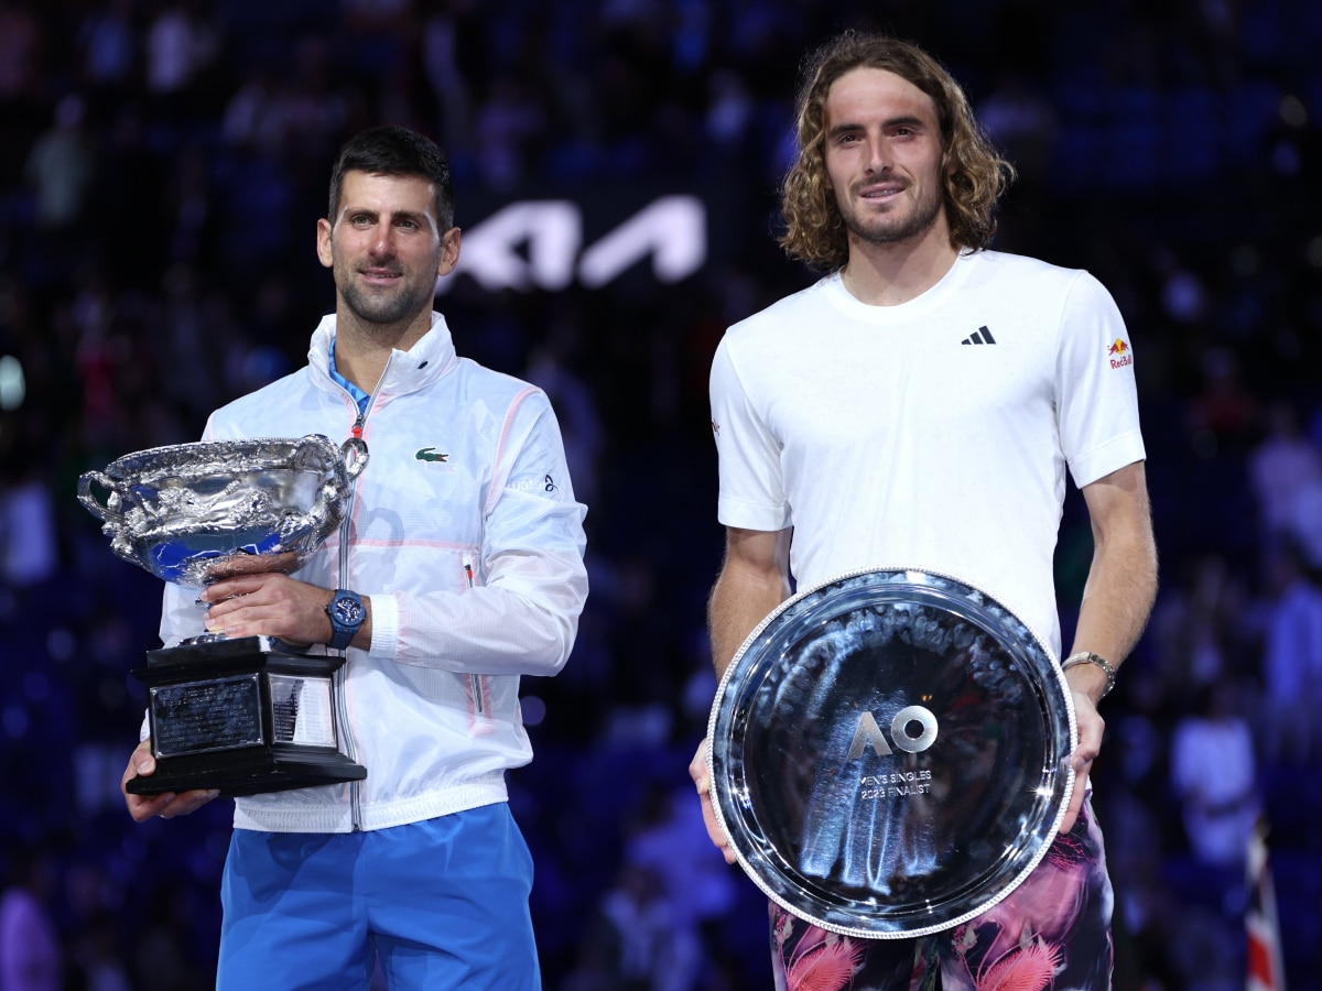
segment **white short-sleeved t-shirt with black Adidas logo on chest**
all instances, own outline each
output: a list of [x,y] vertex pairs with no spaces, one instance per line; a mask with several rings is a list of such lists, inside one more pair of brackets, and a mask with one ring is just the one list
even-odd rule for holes
[[1129,334],[1088,272],[962,254],[917,299],[838,274],[731,326],[711,369],[726,526],[793,527],[809,588],[910,567],[973,584],[1060,651],[1066,494],[1144,459]]

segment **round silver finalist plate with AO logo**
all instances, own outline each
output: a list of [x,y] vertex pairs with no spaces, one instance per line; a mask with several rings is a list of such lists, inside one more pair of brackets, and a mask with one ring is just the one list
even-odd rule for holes
[[912,568],[783,603],[711,708],[717,819],[776,902],[865,938],[988,910],[1036,867],[1073,788],[1059,663],[986,592]]

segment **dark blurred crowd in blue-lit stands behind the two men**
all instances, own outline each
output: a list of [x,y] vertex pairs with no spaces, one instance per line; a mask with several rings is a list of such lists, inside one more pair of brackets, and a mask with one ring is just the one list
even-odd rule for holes
[[[447,147],[465,246],[509,203],[576,205],[584,242],[701,205],[694,271],[460,272],[438,308],[550,392],[590,505],[579,642],[525,684],[512,776],[547,987],[768,986],[764,900],[685,770],[723,546],[706,378],[726,325],[813,277],[775,186],[798,63],[850,25],[952,69],[1019,169],[995,246],[1091,270],[1130,328],[1162,588],[1095,770],[1117,987],[1244,986],[1259,817],[1289,986],[1322,986],[1322,4],[0,0],[4,991],[210,983],[230,803],[123,809],[160,583],[77,478],[304,361],[330,161],[375,123]],[[1071,495],[1067,642],[1089,552]],[[13,983],[24,955],[54,983]]]

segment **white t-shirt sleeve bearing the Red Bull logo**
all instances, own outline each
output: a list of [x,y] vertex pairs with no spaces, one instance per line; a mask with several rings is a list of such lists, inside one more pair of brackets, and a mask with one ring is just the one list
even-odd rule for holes
[[1133,341],[1116,301],[1088,272],[1066,295],[1055,399],[1075,485],[1144,460]]

